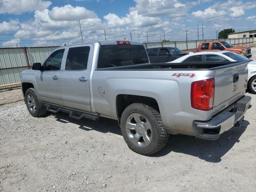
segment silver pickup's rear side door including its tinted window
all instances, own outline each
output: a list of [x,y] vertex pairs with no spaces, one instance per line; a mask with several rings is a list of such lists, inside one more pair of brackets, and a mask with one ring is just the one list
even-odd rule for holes
[[64,106],[91,111],[89,78],[93,44],[70,46],[60,78],[61,98]]

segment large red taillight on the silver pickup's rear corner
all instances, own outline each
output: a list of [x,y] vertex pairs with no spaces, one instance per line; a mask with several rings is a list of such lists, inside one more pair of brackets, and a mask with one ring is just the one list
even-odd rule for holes
[[192,108],[203,111],[211,110],[214,101],[214,87],[214,78],[192,82],[190,94]]

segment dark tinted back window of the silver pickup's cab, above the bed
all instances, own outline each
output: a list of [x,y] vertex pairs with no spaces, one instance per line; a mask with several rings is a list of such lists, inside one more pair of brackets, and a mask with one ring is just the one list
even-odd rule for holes
[[100,47],[98,68],[143,63],[148,63],[148,56],[142,45],[103,45]]

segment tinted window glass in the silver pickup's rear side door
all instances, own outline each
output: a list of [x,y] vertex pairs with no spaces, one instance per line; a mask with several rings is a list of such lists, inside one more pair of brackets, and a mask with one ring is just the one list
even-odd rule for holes
[[89,46],[69,48],[66,70],[85,70],[87,68],[89,53]]

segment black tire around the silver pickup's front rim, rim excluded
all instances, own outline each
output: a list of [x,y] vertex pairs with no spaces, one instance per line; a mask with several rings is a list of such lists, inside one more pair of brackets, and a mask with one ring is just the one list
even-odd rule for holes
[[[31,94],[34,98],[34,103],[35,103],[35,111],[30,110],[30,107],[28,106],[28,95]],[[36,91],[34,90],[34,88],[29,88],[28,90],[26,90],[25,93],[25,102],[26,102],[26,106],[28,108],[28,112],[34,116],[34,117],[40,117],[46,114],[46,106],[44,105],[44,103],[42,101],[40,101],[38,99],[38,97],[36,96]]]

